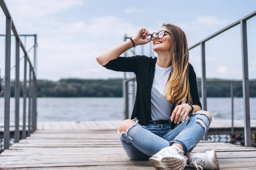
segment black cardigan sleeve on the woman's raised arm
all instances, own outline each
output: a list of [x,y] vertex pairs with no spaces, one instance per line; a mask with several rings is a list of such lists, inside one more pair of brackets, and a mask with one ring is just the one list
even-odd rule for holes
[[137,72],[138,56],[133,57],[118,57],[109,61],[104,67],[109,70],[123,72]]

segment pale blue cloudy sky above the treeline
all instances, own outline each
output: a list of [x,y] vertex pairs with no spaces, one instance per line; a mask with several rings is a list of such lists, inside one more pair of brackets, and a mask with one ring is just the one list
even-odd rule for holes
[[[188,46],[212,35],[256,10],[256,1],[121,1],[121,0],[8,0],[5,1],[18,33],[38,35],[37,78],[108,79],[123,73],[106,70],[96,57],[133,37],[142,27],[156,32],[163,23],[177,25],[185,32]],[[207,41],[207,78],[242,79],[240,25]],[[256,78],[256,16],[247,21],[249,78]],[[0,34],[5,33],[5,16],[0,10]],[[23,44],[25,39],[21,38]],[[5,42],[0,37],[0,68],[4,73]],[[34,40],[26,39],[26,49]],[[11,66],[15,65],[12,39]],[[150,45],[144,54],[152,56]],[[136,47],[142,54],[142,47]],[[33,61],[33,52],[28,53]],[[128,56],[133,56],[131,52]],[[189,51],[189,62],[201,77],[200,46]],[[22,57],[23,54],[20,55]],[[23,59],[20,60],[21,70]],[[15,77],[15,69],[11,78]],[[20,75],[23,78],[23,75]]]

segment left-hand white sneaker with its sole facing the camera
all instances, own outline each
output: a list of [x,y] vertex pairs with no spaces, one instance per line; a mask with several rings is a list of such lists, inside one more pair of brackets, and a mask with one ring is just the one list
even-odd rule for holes
[[155,169],[184,169],[187,164],[187,157],[177,146],[168,146],[157,152],[150,159]]

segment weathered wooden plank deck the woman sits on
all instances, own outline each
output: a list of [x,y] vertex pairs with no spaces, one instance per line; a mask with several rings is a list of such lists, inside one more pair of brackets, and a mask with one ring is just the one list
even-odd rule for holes
[[[116,131],[120,122],[39,122],[31,137],[0,155],[0,169],[154,169],[126,156]],[[256,167],[254,147],[201,141],[193,152],[213,148],[220,169]]]

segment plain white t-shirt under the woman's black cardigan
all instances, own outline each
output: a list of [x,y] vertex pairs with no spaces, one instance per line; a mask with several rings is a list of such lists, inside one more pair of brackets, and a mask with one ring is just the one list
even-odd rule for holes
[[171,72],[170,67],[160,67],[155,63],[155,75],[151,88],[151,118],[155,120],[170,120],[172,104],[167,101],[164,87]]

